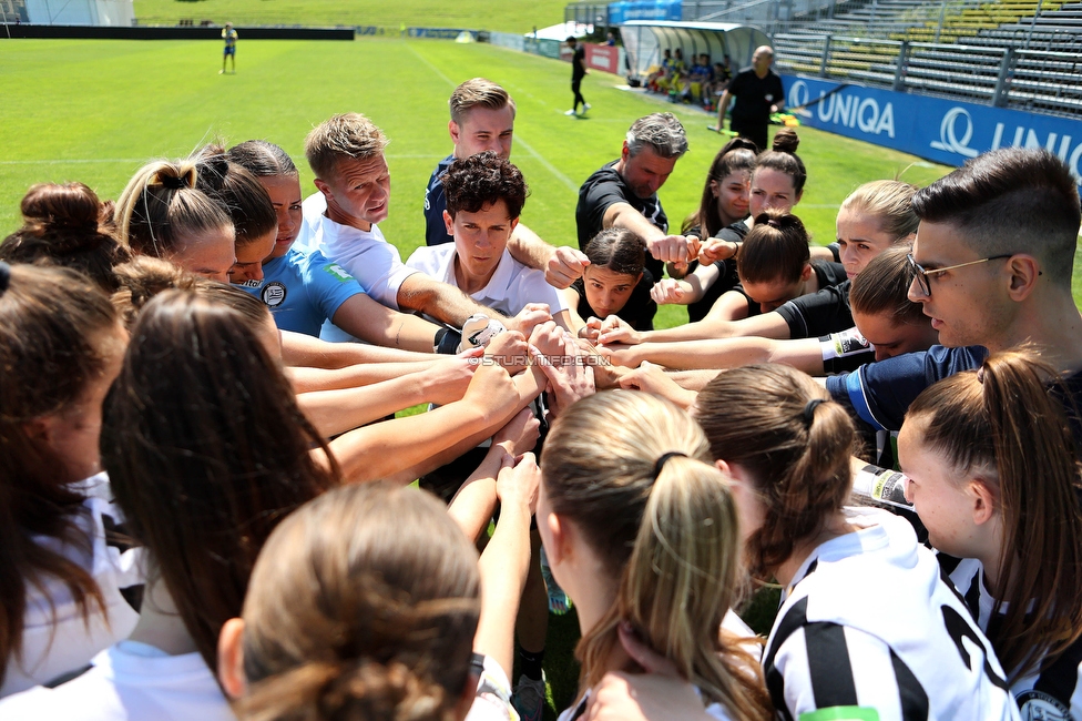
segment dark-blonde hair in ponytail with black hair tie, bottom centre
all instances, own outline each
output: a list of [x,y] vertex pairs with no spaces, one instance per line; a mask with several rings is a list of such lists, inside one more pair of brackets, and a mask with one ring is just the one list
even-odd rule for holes
[[575,404],[542,451],[552,512],[573,522],[617,588],[575,650],[596,686],[629,621],[708,699],[742,719],[770,717],[758,664],[718,633],[739,578],[739,529],[724,476],[687,415],[613,390]]

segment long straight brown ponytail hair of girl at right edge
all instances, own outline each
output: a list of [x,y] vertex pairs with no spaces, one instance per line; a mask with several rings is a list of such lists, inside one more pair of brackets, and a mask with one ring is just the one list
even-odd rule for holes
[[989,638],[1010,682],[1082,636],[1080,469],[1061,404],[1049,397],[1057,377],[1031,353],[998,353],[925,389],[906,414],[923,447],[958,476],[980,471],[996,495],[1004,544],[992,613],[1007,611]]

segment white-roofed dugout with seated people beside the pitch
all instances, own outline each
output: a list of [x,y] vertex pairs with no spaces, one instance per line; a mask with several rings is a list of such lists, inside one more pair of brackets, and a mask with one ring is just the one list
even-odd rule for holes
[[642,81],[654,65],[660,65],[665,49],[680,48],[685,62],[710,53],[711,62],[725,55],[734,69],[752,63],[752,53],[770,39],[758,28],[728,22],[676,22],[667,20],[629,20],[620,26],[620,37],[627,52],[627,80]]

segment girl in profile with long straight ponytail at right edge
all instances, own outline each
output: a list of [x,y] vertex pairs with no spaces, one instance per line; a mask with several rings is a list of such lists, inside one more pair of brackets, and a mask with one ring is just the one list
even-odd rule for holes
[[1080,469],[1054,377],[989,356],[921,393],[898,436],[906,496],[1023,719],[1082,718]]

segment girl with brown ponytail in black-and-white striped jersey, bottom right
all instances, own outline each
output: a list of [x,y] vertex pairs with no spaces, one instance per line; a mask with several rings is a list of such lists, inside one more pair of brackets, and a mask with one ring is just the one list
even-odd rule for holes
[[1017,719],[991,643],[912,527],[847,508],[855,431],[803,373],[736,368],[698,394],[754,577],[784,591],[763,668],[784,719]]

